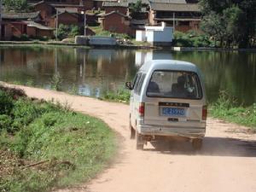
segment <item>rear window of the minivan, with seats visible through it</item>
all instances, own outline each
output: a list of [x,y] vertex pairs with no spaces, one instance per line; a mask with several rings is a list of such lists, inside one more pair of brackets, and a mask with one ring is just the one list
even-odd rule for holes
[[193,72],[154,71],[148,83],[147,96],[201,99],[200,80]]

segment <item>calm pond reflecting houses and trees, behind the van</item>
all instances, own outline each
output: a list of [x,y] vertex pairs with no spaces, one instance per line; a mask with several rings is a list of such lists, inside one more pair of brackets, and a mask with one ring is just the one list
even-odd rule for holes
[[58,73],[63,90],[95,97],[124,87],[144,61],[190,61],[204,74],[209,102],[219,90],[245,105],[256,102],[256,52],[1,47],[0,57],[2,81],[50,89]]

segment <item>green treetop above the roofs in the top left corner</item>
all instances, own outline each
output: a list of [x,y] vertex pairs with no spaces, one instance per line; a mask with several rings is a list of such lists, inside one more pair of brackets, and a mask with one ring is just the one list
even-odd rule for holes
[[26,0],[3,0],[3,5],[8,10],[26,11],[28,8]]

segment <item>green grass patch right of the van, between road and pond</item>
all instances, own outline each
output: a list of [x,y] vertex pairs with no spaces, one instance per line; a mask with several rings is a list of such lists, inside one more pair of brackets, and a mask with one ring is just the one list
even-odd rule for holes
[[238,105],[236,98],[221,91],[217,102],[210,106],[210,115],[239,125],[252,127],[256,131],[256,103],[250,107]]

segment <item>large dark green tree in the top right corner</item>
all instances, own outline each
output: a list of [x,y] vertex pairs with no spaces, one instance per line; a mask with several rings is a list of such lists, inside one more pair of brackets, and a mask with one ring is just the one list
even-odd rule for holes
[[255,0],[200,0],[201,29],[221,46],[253,46],[256,36]]

